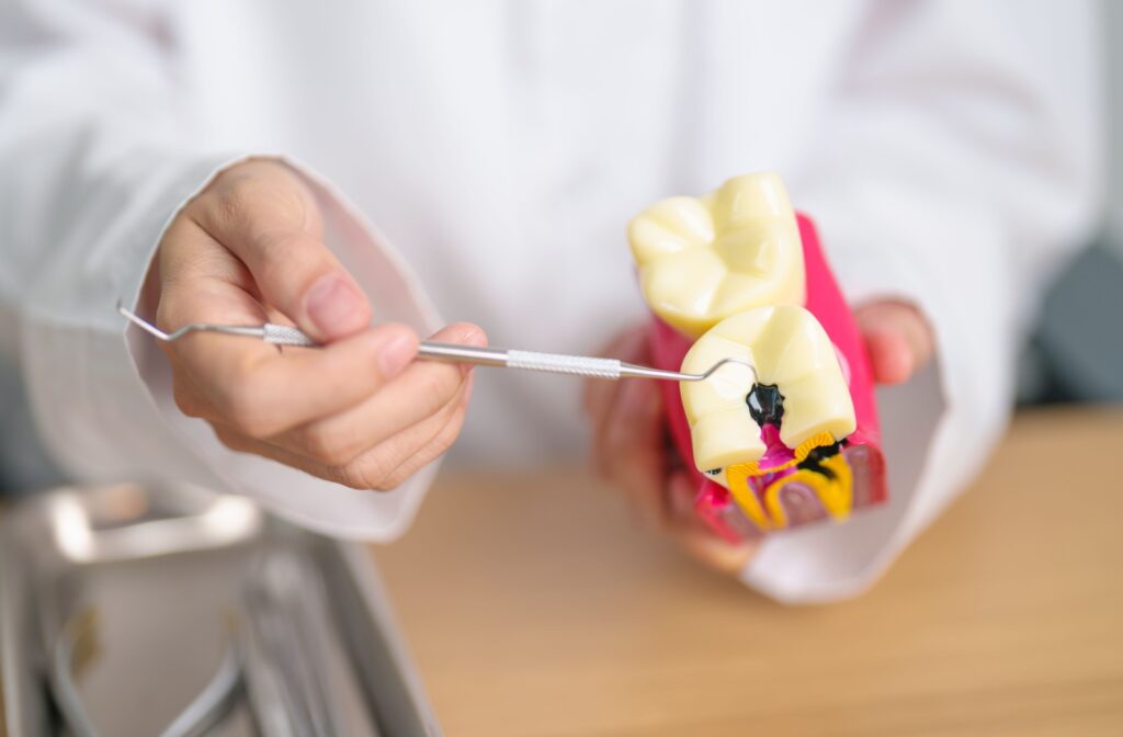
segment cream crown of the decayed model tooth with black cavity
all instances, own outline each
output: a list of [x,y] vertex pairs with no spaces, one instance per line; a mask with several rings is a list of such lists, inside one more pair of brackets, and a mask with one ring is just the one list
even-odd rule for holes
[[[834,346],[802,307],[761,307],[722,320],[699,338],[683,371],[702,373],[723,357],[749,360],[761,384],[776,384],[784,397],[779,437],[789,448],[830,433],[841,440],[856,428],[853,402]],[[752,372],[732,366],[706,381],[682,384],[700,471],[757,461],[765,452],[746,397]],[[716,479],[724,480],[724,474]],[[724,485],[724,484],[723,484]]]

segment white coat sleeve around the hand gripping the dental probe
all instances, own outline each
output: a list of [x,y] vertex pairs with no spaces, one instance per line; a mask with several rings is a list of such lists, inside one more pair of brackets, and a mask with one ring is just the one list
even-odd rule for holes
[[[115,311],[121,298],[150,313],[140,291],[164,227],[245,153],[193,135],[161,22],[92,0],[0,4],[0,348],[19,360],[48,451],[80,481],[192,482],[329,534],[391,538],[436,466],[378,493],[229,452],[176,410],[159,351]],[[390,246],[294,169],[375,315],[432,328],[430,302]]]

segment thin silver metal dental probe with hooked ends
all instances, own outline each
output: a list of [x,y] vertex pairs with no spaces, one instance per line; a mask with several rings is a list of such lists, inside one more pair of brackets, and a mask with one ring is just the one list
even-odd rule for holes
[[[140,329],[164,343],[174,343],[191,333],[219,333],[222,335],[239,335],[261,338],[265,343],[279,346],[314,347],[319,345],[300,329],[266,322],[264,325],[213,325],[194,322],[185,325],[173,333],[164,333],[156,326],[146,322],[136,313],[129,311],[120,302],[117,311],[128,318]],[[418,358],[426,361],[444,361],[447,363],[471,363],[480,366],[500,366],[503,368],[523,368],[527,371],[545,371],[556,374],[591,376],[594,379],[659,379],[664,381],[704,381],[727,364],[746,366],[752,371],[752,382],[757,383],[756,367],[745,358],[722,358],[704,373],[688,374],[678,371],[664,371],[650,366],[638,366],[615,358],[597,358],[593,356],[572,356],[560,353],[537,353],[535,351],[517,351],[513,348],[481,348],[455,343],[435,343],[422,340],[418,345]]]

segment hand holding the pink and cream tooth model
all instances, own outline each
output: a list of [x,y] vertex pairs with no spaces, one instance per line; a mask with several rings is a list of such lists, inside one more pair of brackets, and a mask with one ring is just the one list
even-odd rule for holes
[[[931,329],[916,308],[904,302],[871,302],[857,308],[855,318],[878,383],[907,381],[931,360]],[[626,331],[604,355],[650,365],[647,328]],[[756,545],[725,543],[695,513],[694,484],[670,445],[656,382],[590,380],[584,403],[593,428],[594,466],[623,492],[640,519],[670,534],[707,565],[728,573],[743,568]]]

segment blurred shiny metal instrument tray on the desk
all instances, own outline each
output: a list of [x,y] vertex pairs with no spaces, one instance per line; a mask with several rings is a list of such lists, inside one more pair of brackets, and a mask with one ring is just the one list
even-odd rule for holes
[[0,520],[9,737],[439,735],[359,545],[190,486]]

